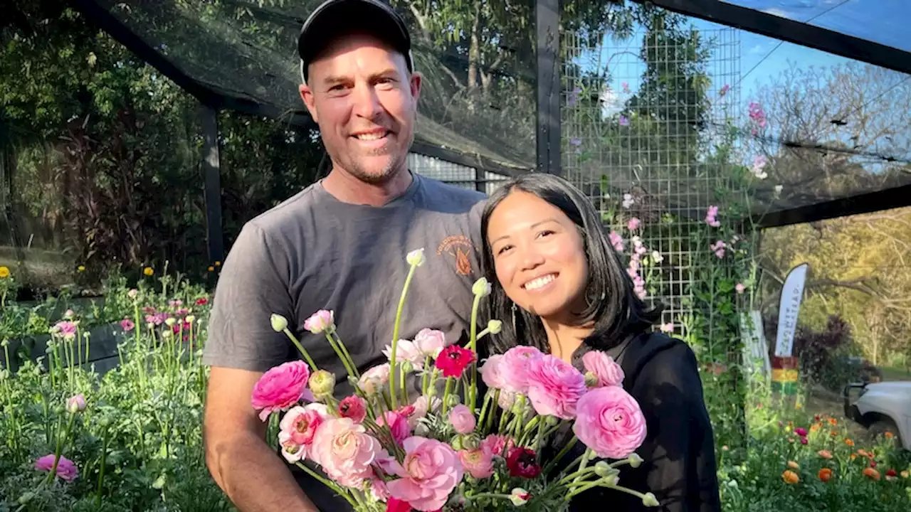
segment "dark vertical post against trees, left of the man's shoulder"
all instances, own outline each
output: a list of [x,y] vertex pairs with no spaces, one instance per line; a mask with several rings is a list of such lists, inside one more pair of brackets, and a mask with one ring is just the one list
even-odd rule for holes
[[200,107],[202,125],[202,172],[206,198],[206,240],[209,262],[222,261],[224,235],[221,230],[221,179],[219,159],[219,112],[208,105]]

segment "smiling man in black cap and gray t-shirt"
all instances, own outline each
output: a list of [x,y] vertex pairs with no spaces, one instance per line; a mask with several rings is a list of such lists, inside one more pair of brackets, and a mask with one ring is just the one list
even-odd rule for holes
[[272,366],[300,358],[270,315],[289,319],[321,369],[349,394],[326,339],[303,330],[333,310],[361,371],[382,364],[408,270],[424,248],[408,292],[400,338],[439,329],[464,335],[478,258],[478,192],[422,178],[406,167],[421,75],[403,20],[377,0],[330,0],[299,40],[300,93],[319,124],[333,168],[325,179],[249,221],[230,250],[215,292],[203,362],[211,365],[204,435],[212,476],[241,510],[348,509],[341,497],[289,466],[264,440],[251,390]]

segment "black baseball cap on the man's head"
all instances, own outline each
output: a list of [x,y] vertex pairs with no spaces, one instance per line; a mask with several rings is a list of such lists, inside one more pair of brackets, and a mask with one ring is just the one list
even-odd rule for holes
[[301,56],[301,75],[307,81],[307,67],[333,39],[348,32],[376,36],[405,57],[408,71],[415,70],[411,55],[411,36],[402,16],[382,0],[326,0],[303,22],[297,38]]

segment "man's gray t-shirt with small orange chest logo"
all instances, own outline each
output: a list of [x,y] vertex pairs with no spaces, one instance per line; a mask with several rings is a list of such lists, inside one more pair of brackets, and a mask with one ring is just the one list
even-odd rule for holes
[[[275,312],[288,319],[314,362],[336,375],[335,394],[350,394],[332,347],[322,334],[305,331],[303,322],[318,310],[333,310],[338,334],[362,373],[387,362],[383,349],[392,343],[409,268],[405,255],[420,248],[425,263],[409,286],[399,338],[414,339],[431,328],[443,331],[447,343],[466,339],[471,286],[481,276],[486,197],[413,176],[404,194],[382,207],[336,200],[317,182],[247,222],[221,270],[203,364],[265,372],[301,359],[285,334],[272,330]],[[322,484],[295,476],[322,510],[348,508]]]

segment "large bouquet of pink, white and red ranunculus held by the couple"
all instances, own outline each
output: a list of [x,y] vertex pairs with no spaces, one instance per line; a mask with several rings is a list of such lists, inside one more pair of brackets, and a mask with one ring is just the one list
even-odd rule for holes
[[[341,400],[333,394],[335,375],[313,362],[286,319],[272,315],[272,328],[291,339],[303,360],[263,374],[252,405],[261,420],[274,417],[278,423],[278,445],[290,464],[358,511],[561,510],[596,486],[658,505],[651,493],[618,485],[619,467],[641,464],[634,450],[646,432],[639,404],[620,385],[618,364],[605,353],[587,353],[582,374],[557,357],[518,346],[479,365],[478,339],[502,325],[491,321],[476,332],[478,305],[490,293],[484,278],[473,286],[466,346],[445,346],[443,333],[430,329],[399,340],[405,297],[424,262],[423,250],[408,253],[406,261],[410,269],[393,339],[384,351],[389,363],[359,373],[331,311],[315,312],[303,324],[325,335],[342,361],[354,393]],[[479,373],[487,388],[483,397],[477,396]],[[414,399],[405,385],[408,374],[420,379]],[[567,442],[557,456],[542,460],[542,449],[560,433]],[[579,441],[584,453],[558,467]]]

